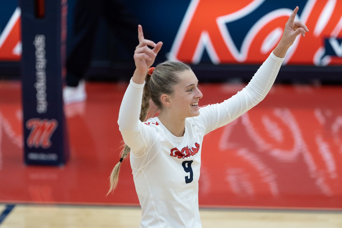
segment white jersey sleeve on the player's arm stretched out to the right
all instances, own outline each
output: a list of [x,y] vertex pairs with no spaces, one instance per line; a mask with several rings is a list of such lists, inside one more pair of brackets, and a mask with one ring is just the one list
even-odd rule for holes
[[284,58],[272,52],[244,89],[220,104],[200,108],[196,119],[203,126],[204,134],[232,122],[261,102],[271,89],[283,61]]

